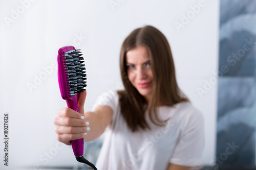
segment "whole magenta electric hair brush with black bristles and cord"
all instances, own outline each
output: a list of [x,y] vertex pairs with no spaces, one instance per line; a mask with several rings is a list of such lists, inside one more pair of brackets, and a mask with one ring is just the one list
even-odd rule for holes
[[[86,90],[86,67],[83,57],[74,46],[63,46],[58,51],[58,82],[62,99],[69,108],[79,112],[79,93]],[[73,152],[78,162],[83,162],[97,169],[94,164],[83,157],[83,138],[71,140]]]

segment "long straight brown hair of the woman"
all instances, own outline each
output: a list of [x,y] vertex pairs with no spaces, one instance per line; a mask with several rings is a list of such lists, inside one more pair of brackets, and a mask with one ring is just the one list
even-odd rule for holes
[[[147,48],[151,58],[154,90],[149,103],[129,81],[126,66],[126,53],[137,46]],[[124,40],[120,52],[120,71],[124,90],[117,91],[121,114],[131,130],[150,129],[145,120],[148,109],[151,121],[163,126],[167,120],[160,120],[156,107],[159,105],[173,106],[176,103],[188,101],[178,87],[172,52],[165,36],[152,26],[134,30]]]

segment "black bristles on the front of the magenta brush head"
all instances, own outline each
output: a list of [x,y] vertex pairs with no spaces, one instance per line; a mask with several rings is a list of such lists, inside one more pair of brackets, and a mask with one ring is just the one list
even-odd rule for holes
[[78,50],[63,53],[69,96],[80,93],[87,87],[86,67],[80,53]]

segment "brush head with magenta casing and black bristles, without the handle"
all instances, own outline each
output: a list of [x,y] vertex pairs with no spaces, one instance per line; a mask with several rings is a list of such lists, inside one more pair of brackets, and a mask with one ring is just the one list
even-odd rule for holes
[[64,46],[58,51],[58,82],[64,100],[78,98],[86,90],[86,67],[83,57],[74,46]]

